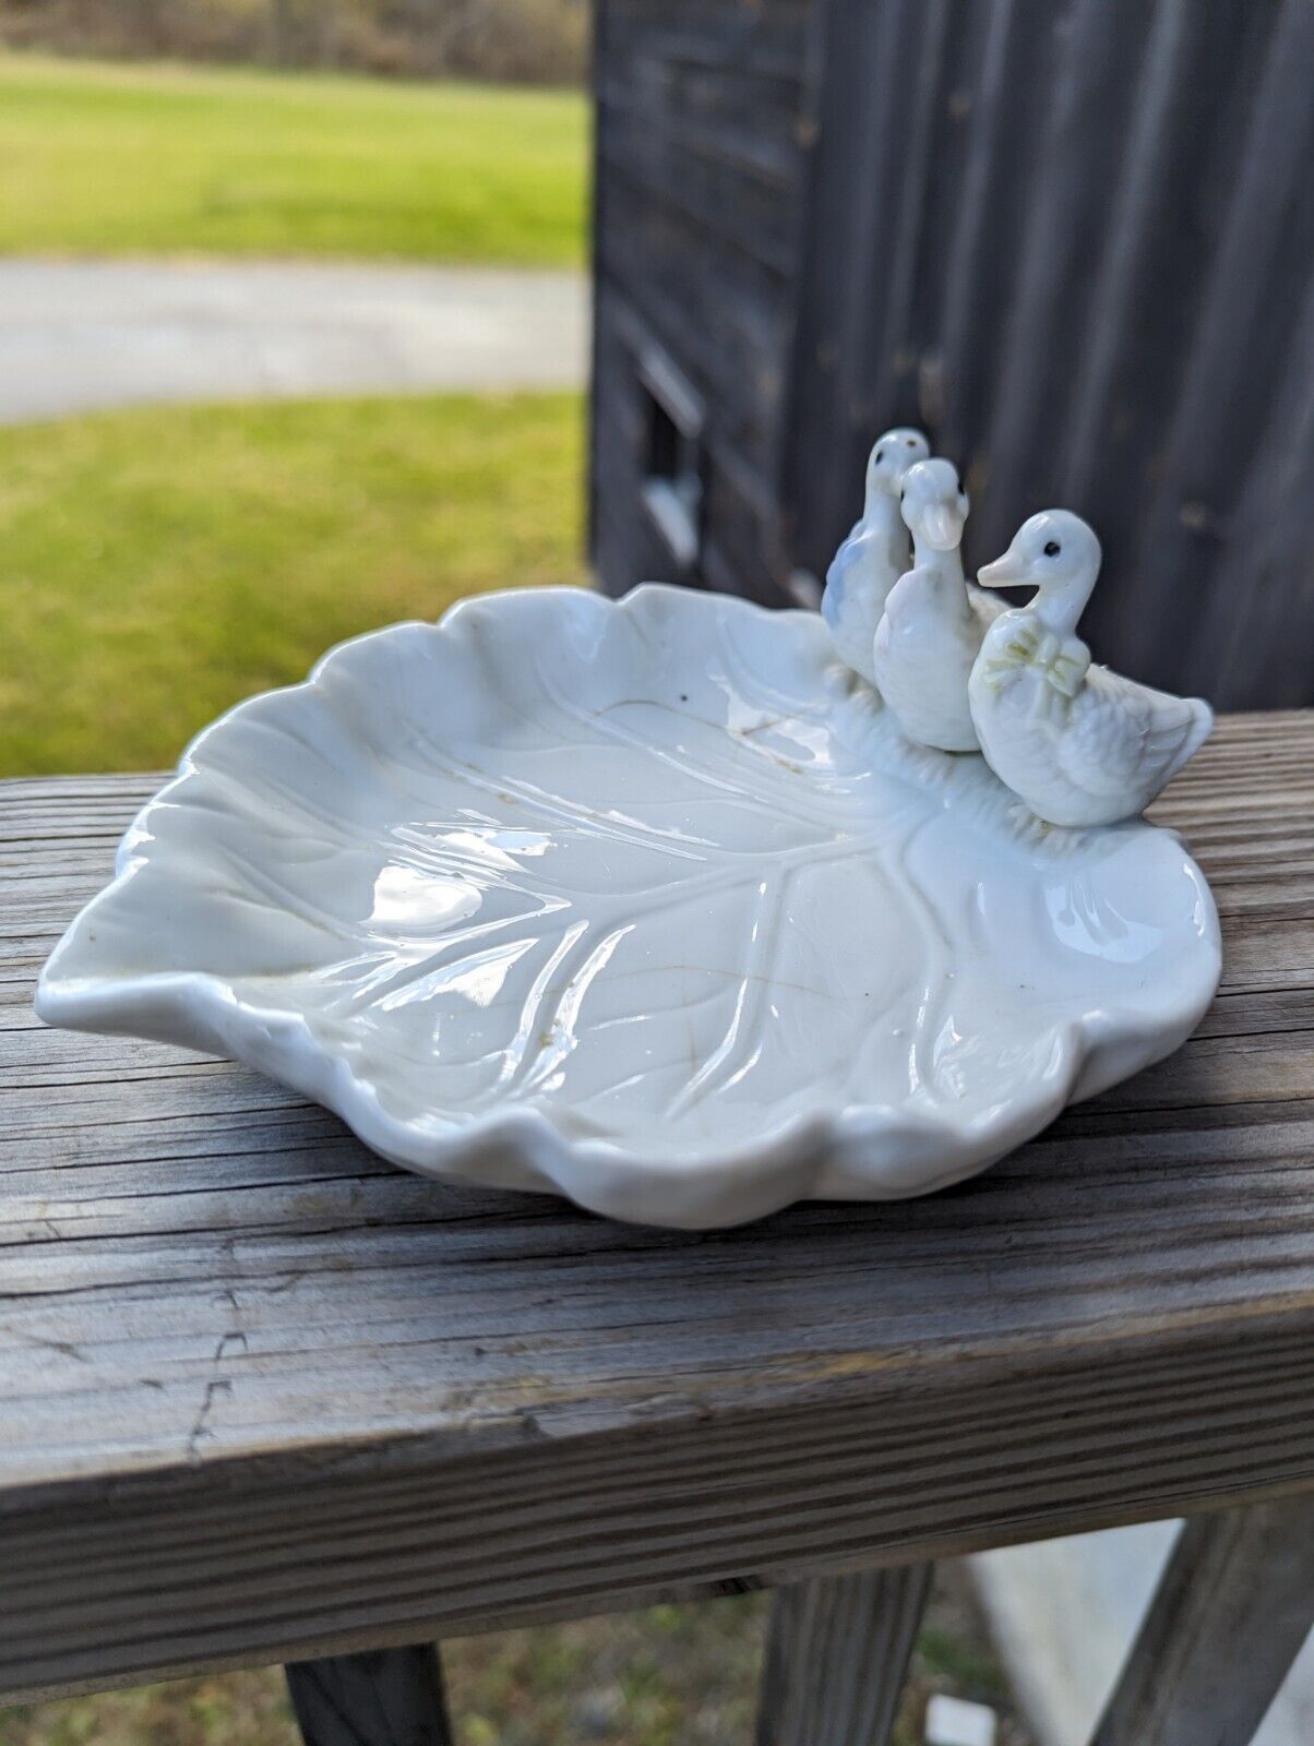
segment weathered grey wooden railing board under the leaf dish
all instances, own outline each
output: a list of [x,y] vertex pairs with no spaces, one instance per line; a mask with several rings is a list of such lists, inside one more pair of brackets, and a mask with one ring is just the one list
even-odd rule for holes
[[1172,1060],[949,1193],[704,1234],[42,1028],[152,786],[0,787],[0,1690],[1314,1486],[1314,716],[1225,719],[1158,808],[1227,953]]

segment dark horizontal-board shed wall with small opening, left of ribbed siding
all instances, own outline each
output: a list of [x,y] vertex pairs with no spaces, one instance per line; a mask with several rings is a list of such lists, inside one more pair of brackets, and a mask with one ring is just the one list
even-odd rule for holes
[[[820,7],[601,0],[594,9],[591,552],[603,585],[716,587],[783,604],[778,475],[800,271]],[[690,574],[643,505],[641,325],[708,405]],[[748,489],[746,489],[748,487]]]

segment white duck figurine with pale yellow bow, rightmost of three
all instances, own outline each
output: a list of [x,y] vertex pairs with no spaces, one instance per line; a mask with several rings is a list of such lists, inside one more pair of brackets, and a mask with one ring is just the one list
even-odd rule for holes
[[1099,557],[1080,515],[1043,510],[979,576],[989,588],[1038,590],[987,630],[968,697],[986,761],[1050,824],[1115,824],[1143,812],[1214,719],[1199,697],[1153,691],[1090,663],[1076,622]]

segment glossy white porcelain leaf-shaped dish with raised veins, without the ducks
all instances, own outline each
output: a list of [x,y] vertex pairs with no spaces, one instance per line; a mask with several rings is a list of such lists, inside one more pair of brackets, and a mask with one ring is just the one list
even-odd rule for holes
[[718,1226],[980,1170],[1218,973],[1172,833],[1036,828],[820,616],[524,590],[201,733],[37,1007],[236,1056],[412,1170]]

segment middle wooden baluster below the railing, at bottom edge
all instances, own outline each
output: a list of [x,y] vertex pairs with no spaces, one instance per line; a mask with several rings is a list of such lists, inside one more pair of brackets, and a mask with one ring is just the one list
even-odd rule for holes
[[757,1746],[886,1746],[933,1564],[779,1589]]

